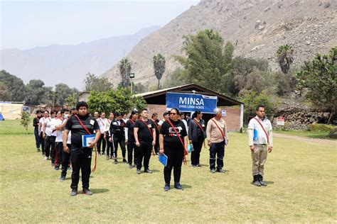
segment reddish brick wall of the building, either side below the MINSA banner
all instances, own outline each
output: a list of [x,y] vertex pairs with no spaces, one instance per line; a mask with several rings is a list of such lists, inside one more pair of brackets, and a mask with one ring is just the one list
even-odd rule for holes
[[[152,113],[158,113],[159,120],[163,118],[163,113],[166,111],[166,105],[156,105],[148,104],[149,116]],[[224,118],[228,131],[238,131],[240,130],[240,106],[225,106],[220,107],[221,109],[226,110],[227,116]]]

